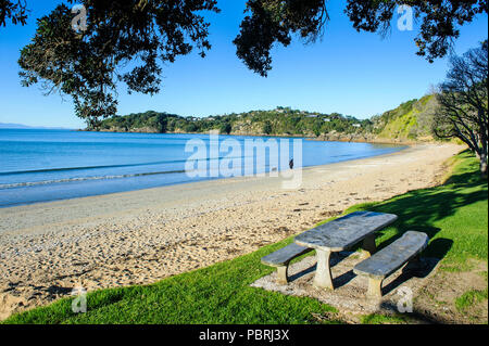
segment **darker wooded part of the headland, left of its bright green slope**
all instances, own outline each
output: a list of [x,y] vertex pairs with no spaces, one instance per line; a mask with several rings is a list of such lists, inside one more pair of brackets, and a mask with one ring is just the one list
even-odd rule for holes
[[[360,124],[361,127],[354,125]],[[291,134],[318,137],[325,133],[360,134],[368,131],[371,121],[338,113],[319,114],[278,107],[206,118],[181,117],[175,114],[146,113],[113,116],[100,124],[101,130],[149,132],[209,132],[223,134]]]

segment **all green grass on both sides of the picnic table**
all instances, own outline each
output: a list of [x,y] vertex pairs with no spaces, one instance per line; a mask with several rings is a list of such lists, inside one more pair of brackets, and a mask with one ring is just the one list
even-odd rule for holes
[[[394,225],[380,232],[377,239],[380,248],[405,231],[417,230],[430,238],[425,256],[443,259],[446,270],[464,270],[469,258],[487,261],[487,180],[479,178],[477,161],[467,152],[457,155],[453,165],[453,172],[443,185],[356,205],[347,213],[368,209],[399,216]],[[291,241],[292,238],[152,285],[92,292],[87,297],[87,313],[73,313],[72,299],[65,298],[14,315],[4,323],[317,323],[312,313],[328,315],[336,310],[311,298],[249,286],[274,270],[261,265],[260,258]],[[460,297],[459,304],[464,307],[478,297],[478,293],[471,293]],[[364,323],[406,321],[405,317],[379,315],[362,319]]]

